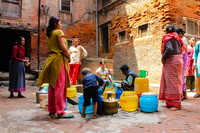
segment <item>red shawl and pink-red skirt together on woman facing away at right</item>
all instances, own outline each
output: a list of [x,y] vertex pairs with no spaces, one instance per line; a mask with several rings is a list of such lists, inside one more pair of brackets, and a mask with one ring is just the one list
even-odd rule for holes
[[[170,39],[176,39],[181,43],[181,53],[185,51],[183,41],[178,37],[177,33],[168,33],[162,38],[161,53],[162,55],[166,49],[166,43]],[[176,44],[173,44],[176,45]],[[182,96],[182,54],[171,54],[163,62],[162,76],[160,82],[159,99],[165,100],[166,105],[170,107],[181,107]]]

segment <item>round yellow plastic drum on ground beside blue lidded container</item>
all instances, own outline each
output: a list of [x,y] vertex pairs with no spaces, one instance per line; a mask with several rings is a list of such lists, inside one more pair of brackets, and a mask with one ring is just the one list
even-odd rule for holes
[[135,111],[138,109],[138,96],[134,91],[124,91],[120,97],[120,105],[124,111]]

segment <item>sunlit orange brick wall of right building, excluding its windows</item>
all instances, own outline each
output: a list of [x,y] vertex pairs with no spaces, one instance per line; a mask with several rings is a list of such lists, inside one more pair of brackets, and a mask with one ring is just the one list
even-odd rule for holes
[[[200,19],[199,6],[196,0],[188,0],[186,3],[185,0],[133,0],[114,8],[102,9],[99,24],[110,22],[108,25],[110,53],[101,52],[100,42],[100,57],[106,55],[113,58],[115,77],[118,79],[123,77],[119,71],[120,65],[128,64],[136,73],[139,70],[147,70],[150,83],[159,83],[162,69],[160,46],[165,27],[173,24],[185,29],[183,17]],[[137,38],[137,26],[145,23],[150,23],[150,36]],[[123,30],[126,30],[126,42],[120,44],[118,32]]]

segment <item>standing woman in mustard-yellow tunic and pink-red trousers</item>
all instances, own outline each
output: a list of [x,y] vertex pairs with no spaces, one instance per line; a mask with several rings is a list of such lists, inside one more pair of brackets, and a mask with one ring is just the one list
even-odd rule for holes
[[56,117],[57,114],[58,118],[73,118],[73,115],[66,115],[64,111],[66,88],[70,86],[68,76],[70,54],[59,18],[50,18],[46,35],[50,54],[43,66],[37,84],[49,83],[48,110],[51,117]]

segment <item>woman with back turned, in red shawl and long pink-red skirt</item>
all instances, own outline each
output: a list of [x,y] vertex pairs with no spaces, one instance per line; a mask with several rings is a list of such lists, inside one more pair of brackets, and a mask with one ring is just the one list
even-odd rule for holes
[[175,33],[175,27],[168,25],[166,35],[162,38],[162,76],[159,99],[165,100],[171,110],[181,109],[182,95],[182,51],[184,45],[181,38]]

